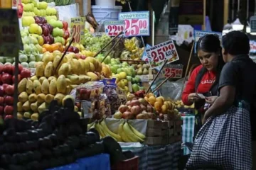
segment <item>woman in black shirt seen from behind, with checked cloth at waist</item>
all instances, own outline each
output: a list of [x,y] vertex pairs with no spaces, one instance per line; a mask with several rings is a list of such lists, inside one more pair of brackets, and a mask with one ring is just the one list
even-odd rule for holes
[[205,113],[205,124],[196,136],[187,166],[213,164],[227,170],[250,170],[251,129],[254,133],[250,104],[255,99],[256,65],[248,56],[250,44],[245,33],[231,31],[222,43],[227,63],[220,74],[219,95],[207,98],[213,105]]

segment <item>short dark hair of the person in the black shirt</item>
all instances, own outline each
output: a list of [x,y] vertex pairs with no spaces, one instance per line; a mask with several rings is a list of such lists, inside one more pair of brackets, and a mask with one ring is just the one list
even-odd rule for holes
[[250,40],[245,33],[232,30],[222,38],[223,48],[226,54],[248,55],[250,52]]

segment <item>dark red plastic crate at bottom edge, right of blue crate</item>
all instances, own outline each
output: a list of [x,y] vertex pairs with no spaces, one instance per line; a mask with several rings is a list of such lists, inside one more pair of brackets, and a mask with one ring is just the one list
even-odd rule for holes
[[119,162],[112,166],[111,170],[139,170],[139,157],[135,156],[131,159]]

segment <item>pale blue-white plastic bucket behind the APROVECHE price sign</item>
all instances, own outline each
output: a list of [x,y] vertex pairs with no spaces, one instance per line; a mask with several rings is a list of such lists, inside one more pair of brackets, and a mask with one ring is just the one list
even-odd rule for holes
[[92,6],[92,13],[99,23],[104,21],[118,21],[122,6]]

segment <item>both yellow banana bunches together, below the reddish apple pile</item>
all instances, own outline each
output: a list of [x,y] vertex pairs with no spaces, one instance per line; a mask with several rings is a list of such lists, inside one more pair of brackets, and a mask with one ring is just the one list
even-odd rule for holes
[[128,121],[122,121],[119,124],[117,133],[112,132],[107,127],[105,120],[90,123],[87,128],[88,130],[95,128],[100,133],[100,137],[110,136],[117,142],[144,142],[146,138],[145,135],[132,127]]

